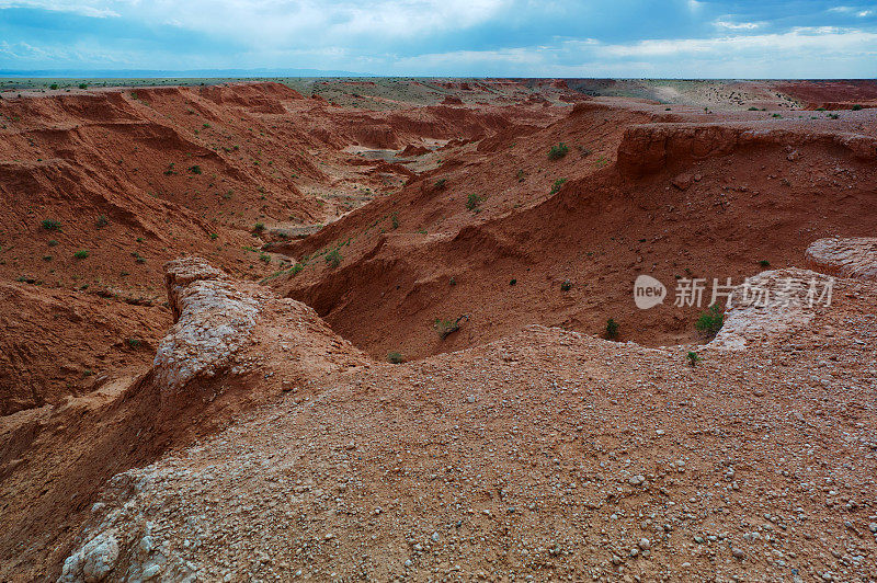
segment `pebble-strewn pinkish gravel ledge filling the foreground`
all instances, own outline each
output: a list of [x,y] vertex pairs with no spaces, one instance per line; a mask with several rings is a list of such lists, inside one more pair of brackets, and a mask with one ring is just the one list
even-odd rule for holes
[[[789,277],[823,276],[754,283]],[[369,365],[326,328],[291,333],[286,300],[237,358],[272,397],[115,477],[61,580],[867,579],[875,292],[839,279],[812,309],[738,294],[695,366],[543,327]],[[307,368],[286,354],[310,344],[316,364],[326,341],[346,366],[289,384]]]

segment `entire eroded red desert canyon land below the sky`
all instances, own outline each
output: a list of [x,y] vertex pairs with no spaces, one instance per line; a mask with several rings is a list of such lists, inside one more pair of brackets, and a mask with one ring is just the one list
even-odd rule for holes
[[877,581],[877,83],[0,98],[0,579]]

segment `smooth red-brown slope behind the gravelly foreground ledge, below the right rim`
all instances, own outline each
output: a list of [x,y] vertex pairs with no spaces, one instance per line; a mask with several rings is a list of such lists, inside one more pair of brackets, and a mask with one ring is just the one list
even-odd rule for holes
[[[799,262],[816,238],[873,232],[877,141],[858,130],[866,112],[719,122],[664,110],[582,104],[545,128],[457,148],[399,196],[272,247],[306,266],[269,285],[378,358],[458,350],[532,323],[601,334],[610,318],[622,340],[660,345],[696,341],[702,310],[638,310],[637,275],[671,294],[681,278],[741,283],[761,262]],[[558,141],[569,153],[551,161]],[[471,195],[481,199],[468,209]],[[463,315],[458,333],[433,330]]]

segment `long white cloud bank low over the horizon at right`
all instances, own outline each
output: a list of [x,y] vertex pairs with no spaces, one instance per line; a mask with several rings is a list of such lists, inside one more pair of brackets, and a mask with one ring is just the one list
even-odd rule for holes
[[832,78],[877,73],[877,33],[833,27],[782,34],[460,50],[407,57],[399,73],[536,77]]

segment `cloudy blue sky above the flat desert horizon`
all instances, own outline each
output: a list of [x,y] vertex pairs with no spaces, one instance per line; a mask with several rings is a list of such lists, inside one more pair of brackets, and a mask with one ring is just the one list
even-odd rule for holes
[[0,70],[875,78],[877,2],[0,0]]

